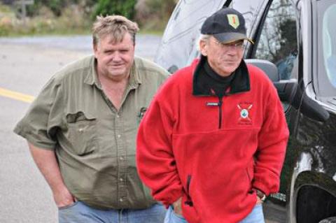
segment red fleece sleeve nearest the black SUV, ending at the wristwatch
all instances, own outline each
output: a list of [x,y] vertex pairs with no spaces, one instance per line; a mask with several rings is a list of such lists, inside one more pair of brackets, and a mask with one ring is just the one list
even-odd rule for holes
[[286,153],[289,131],[283,107],[272,82],[267,89],[264,121],[258,135],[253,187],[266,195],[279,191],[280,173]]

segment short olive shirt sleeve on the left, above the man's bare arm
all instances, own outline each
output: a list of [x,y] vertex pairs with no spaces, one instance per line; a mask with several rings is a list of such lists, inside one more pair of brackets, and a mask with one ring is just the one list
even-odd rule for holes
[[51,78],[31,103],[14,132],[38,148],[53,150],[57,129],[62,123],[62,82]]

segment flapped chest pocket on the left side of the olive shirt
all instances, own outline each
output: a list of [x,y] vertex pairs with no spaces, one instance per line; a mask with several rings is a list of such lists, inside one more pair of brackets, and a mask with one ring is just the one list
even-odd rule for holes
[[78,111],[66,115],[68,140],[73,152],[85,156],[98,151],[97,119],[88,113]]

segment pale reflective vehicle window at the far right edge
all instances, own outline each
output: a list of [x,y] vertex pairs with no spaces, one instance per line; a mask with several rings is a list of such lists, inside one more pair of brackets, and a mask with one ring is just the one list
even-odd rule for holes
[[336,1],[318,2],[317,13],[318,94],[336,96]]

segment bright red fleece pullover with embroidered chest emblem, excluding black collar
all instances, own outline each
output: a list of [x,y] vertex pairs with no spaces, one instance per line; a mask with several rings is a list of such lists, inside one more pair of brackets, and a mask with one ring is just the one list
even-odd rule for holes
[[188,222],[239,222],[255,206],[253,188],[279,190],[283,108],[265,73],[248,65],[251,89],[224,96],[218,113],[209,106],[218,97],[193,95],[196,66],[172,75],[153,99],[139,127],[137,168],[158,201],[169,206],[183,197]]

